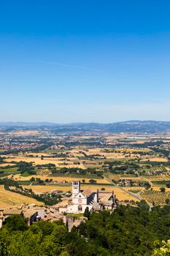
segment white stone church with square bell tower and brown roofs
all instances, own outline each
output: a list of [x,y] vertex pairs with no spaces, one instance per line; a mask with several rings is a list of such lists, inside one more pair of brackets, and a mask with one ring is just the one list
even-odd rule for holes
[[72,181],[72,200],[68,201],[65,208],[59,208],[60,212],[83,214],[85,208],[89,211],[112,210],[116,206],[113,192],[96,191],[92,189],[81,190],[80,181]]

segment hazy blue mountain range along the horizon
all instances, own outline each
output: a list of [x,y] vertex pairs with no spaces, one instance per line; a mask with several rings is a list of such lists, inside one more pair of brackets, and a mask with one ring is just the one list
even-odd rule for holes
[[55,124],[48,122],[7,122],[0,123],[1,129],[54,129],[56,132],[98,131],[98,132],[170,132],[170,121],[122,121],[111,124],[72,123]]

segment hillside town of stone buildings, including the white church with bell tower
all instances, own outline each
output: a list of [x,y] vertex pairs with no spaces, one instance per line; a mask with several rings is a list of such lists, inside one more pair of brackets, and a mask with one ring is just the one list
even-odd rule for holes
[[[80,222],[85,221],[85,217],[78,217],[74,219],[74,215],[66,214],[88,214],[93,211],[102,211],[104,209],[113,211],[116,207],[116,198],[114,192],[96,191],[91,189],[80,189],[80,181],[72,181],[72,198],[63,197],[61,203],[50,207],[38,207],[35,204],[11,206],[9,208],[0,209],[0,227],[2,227],[5,219],[10,216],[20,215],[28,219],[28,225],[36,221],[56,221],[62,220],[64,223],[69,222],[69,228],[73,225],[79,225]],[[70,218],[72,217],[72,218]]]

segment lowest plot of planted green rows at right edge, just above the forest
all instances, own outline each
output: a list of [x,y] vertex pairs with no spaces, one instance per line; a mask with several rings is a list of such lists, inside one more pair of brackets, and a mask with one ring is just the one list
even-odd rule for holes
[[170,192],[161,192],[156,190],[144,190],[140,196],[148,203],[155,203],[155,206],[166,203],[166,199],[170,200]]

